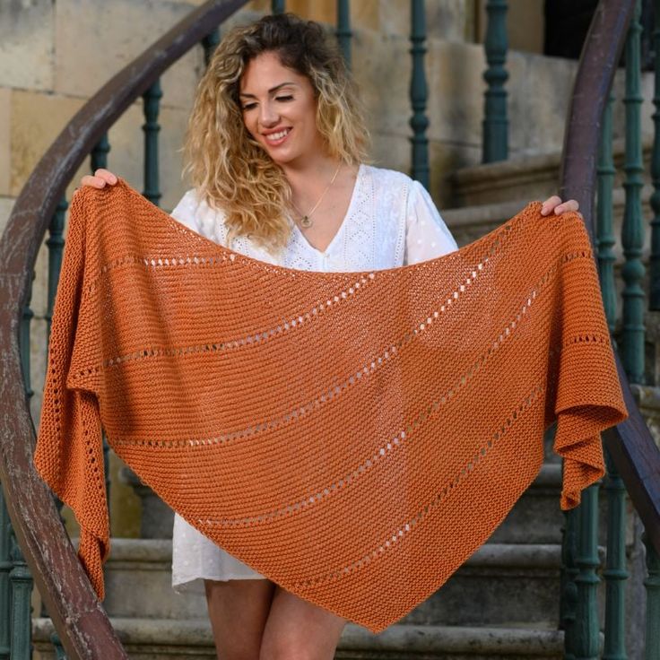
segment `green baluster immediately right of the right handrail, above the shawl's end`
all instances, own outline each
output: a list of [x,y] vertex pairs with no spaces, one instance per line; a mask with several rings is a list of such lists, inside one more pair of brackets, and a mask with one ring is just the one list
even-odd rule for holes
[[616,324],[616,284],[614,282],[614,231],[612,222],[612,188],[614,186],[614,159],[612,156],[613,94],[605,106],[603,131],[598,152],[598,179],[596,200],[596,247],[598,248],[598,274],[603,291],[603,305],[610,333]]

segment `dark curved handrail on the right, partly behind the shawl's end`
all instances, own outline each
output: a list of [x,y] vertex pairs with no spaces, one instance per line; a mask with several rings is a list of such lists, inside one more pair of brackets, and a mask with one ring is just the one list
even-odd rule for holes
[[[603,113],[625,44],[635,0],[601,0],[592,19],[569,106],[560,169],[560,195],[580,204],[594,243],[594,196]],[[639,412],[628,377],[616,356],[630,417],[604,433],[605,445],[660,552],[660,450]]]

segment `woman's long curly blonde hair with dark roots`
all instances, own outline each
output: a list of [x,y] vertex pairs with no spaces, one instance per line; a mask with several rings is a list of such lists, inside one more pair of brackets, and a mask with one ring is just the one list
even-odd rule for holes
[[366,160],[369,143],[360,100],[338,48],[317,22],[267,15],[221,39],[202,77],[187,126],[184,174],[197,194],[224,213],[228,242],[248,235],[277,253],[291,235],[291,187],[282,169],[249,134],[239,102],[247,63],[265,52],[307,76],[317,99],[317,129],[330,157]]

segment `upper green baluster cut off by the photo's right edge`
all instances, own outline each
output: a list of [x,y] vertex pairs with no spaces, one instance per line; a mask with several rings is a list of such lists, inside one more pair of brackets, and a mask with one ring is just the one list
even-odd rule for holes
[[656,24],[653,30],[653,48],[656,52],[656,65],[654,76],[653,104],[656,107],[653,113],[653,152],[651,154],[651,180],[653,181],[653,195],[651,195],[651,208],[653,220],[651,221],[651,256],[649,258],[649,294],[648,307],[653,311],[660,311],[660,2],[656,0]]

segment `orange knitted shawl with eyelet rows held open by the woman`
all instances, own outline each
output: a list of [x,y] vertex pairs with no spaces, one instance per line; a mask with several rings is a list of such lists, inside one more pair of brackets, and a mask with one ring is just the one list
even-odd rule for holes
[[123,179],[78,190],[34,460],[97,593],[101,427],[191,525],[372,632],[486,541],[553,421],[577,505],[627,412],[586,229],[540,211],[419,264],[316,273],[221,247]]

